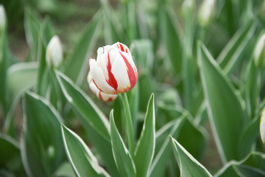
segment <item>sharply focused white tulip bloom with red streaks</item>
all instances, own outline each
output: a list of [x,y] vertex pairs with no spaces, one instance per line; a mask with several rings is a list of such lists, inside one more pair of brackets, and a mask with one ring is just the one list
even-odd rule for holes
[[89,69],[97,88],[107,94],[125,93],[137,81],[131,51],[120,42],[100,47],[97,60],[89,60]]

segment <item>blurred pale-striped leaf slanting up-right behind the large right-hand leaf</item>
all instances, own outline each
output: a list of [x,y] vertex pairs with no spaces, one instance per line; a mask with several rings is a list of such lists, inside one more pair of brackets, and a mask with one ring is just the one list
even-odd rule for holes
[[243,54],[245,47],[254,35],[257,24],[258,22],[255,21],[254,23],[238,29],[217,57],[216,60],[226,73],[229,73],[235,67],[238,59],[242,56],[241,54]]

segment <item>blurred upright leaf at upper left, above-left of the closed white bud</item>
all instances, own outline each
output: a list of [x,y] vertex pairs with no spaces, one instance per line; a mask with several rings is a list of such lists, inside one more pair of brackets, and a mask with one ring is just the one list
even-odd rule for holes
[[24,14],[24,28],[26,33],[27,44],[31,49],[33,59],[36,59],[38,49],[38,38],[41,28],[41,23],[32,9],[27,8]]

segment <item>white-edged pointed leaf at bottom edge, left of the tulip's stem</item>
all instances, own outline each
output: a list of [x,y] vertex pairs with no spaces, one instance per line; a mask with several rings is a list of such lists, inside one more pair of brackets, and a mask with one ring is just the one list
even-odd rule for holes
[[110,177],[76,133],[63,124],[61,131],[68,160],[78,177]]

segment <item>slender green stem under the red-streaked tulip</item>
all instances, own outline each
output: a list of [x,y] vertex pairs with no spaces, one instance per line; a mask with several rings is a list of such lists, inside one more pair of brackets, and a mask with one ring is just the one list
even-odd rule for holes
[[125,121],[126,121],[127,134],[128,134],[128,140],[129,140],[129,151],[130,151],[130,154],[133,155],[134,134],[133,134],[131,110],[130,110],[127,94],[122,93],[121,96],[122,96],[122,104],[123,104],[123,108],[125,112]]

